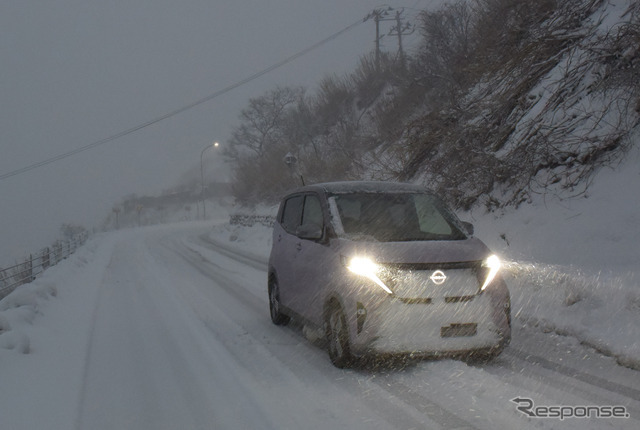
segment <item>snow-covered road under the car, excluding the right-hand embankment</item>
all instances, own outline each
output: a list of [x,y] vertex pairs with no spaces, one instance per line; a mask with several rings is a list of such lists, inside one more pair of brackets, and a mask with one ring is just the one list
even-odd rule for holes
[[[302,327],[271,324],[264,252],[210,232],[102,236],[5,299],[0,427],[640,428],[640,372],[517,318],[490,364],[336,369]],[[531,418],[516,397],[622,405],[630,417]]]

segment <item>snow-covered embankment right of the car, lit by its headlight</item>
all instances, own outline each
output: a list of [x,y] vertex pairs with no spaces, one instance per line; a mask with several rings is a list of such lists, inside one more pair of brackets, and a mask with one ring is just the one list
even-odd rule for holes
[[506,260],[513,313],[640,369],[640,151],[580,198],[540,197],[476,232]]

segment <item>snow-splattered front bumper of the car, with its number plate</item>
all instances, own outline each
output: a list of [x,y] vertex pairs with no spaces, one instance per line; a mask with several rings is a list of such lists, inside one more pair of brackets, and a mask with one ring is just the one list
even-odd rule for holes
[[[507,293],[508,294],[508,293]],[[509,299],[479,294],[465,301],[358,302],[352,319],[355,353],[448,355],[498,349],[511,337]]]

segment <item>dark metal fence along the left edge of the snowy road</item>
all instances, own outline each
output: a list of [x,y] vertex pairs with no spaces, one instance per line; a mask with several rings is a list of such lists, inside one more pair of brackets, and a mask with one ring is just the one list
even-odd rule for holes
[[0,299],[20,285],[35,280],[47,268],[69,257],[87,240],[88,236],[85,232],[71,240],[58,240],[53,245],[29,255],[22,263],[0,269]]

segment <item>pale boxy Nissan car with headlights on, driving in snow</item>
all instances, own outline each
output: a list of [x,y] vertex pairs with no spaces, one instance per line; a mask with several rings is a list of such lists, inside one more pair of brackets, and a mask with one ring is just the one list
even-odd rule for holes
[[335,182],[286,195],[268,292],[273,323],[323,330],[338,367],[387,353],[491,358],[511,338],[500,260],[416,185]]

